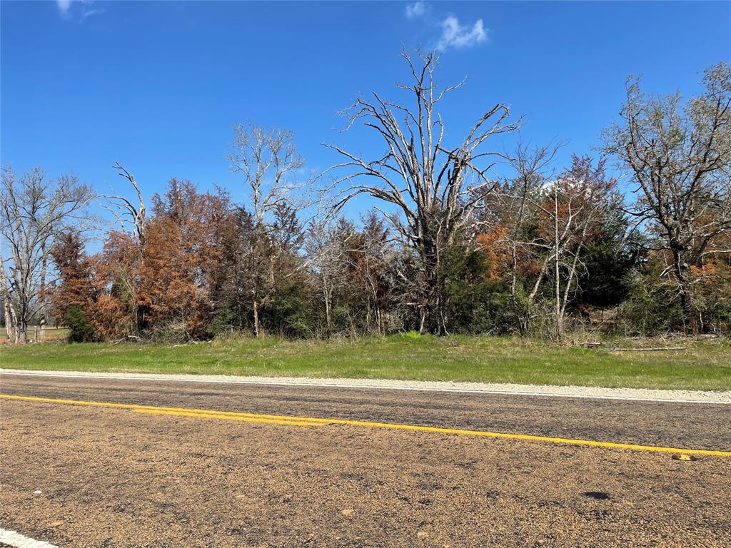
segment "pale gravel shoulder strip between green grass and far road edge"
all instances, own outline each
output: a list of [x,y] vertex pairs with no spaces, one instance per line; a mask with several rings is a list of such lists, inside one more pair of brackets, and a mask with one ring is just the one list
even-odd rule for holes
[[91,373],[86,371],[29,371],[0,369],[0,373],[58,378],[110,378],[140,381],[206,382],[221,384],[270,384],[281,386],[368,388],[434,392],[475,392],[486,394],[587,397],[597,399],[676,401],[731,404],[731,392],[700,390],[656,390],[637,388],[557,387],[532,384],[487,384],[452,381],[403,381],[373,378],[307,378],[229,375],[184,375],[162,373]]

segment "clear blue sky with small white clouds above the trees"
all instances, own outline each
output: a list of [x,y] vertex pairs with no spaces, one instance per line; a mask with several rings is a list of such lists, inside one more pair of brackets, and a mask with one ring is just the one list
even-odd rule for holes
[[[447,140],[497,102],[524,137],[585,153],[618,113],[629,74],[648,91],[698,89],[731,58],[730,2],[2,1],[0,161],[73,170],[99,191],[146,194],[170,177],[241,197],[226,161],[232,125],[292,129],[313,170],[359,93],[398,97],[401,47],[440,47],[439,79],[468,83],[444,102]],[[496,141],[498,148],[503,143]],[[379,149],[378,149],[379,150]],[[362,205],[362,204],[361,204]],[[353,205],[351,210],[357,208]]]

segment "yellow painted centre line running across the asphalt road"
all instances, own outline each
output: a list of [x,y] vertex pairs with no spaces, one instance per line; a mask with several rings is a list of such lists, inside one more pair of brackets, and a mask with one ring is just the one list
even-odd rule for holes
[[651,452],[662,452],[662,453],[685,453],[685,454],[705,454],[714,457],[731,457],[729,451],[713,451],[710,449],[681,449],[678,447],[663,447],[663,446],[651,446],[651,445],[635,445],[635,444],[618,444],[612,441],[593,441],[593,440],[581,440],[574,438],[552,438],[544,435],[529,435],[529,434],[510,434],[502,432],[486,432],[484,430],[461,430],[457,428],[440,428],[435,426],[417,426],[417,425],[400,425],[392,422],[368,422],[368,421],[356,421],[347,419],[317,419],[313,417],[304,416],[289,416],[289,415],[264,415],[255,413],[238,413],[235,411],[216,411],[212,409],[192,409],[192,408],[180,408],[180,407],[159,407],[159,406],[139,406],[132,403],[112,403],[112,402],[97,402],[97,401],[85,401],[85,400],[64,400],[52,397],[35,397],[35,396],[18,396],[18,395],[5,395],[2,394],[0,397],[4,397],[10,400],[24,400],[34,402],[45,402],[45,403],[67,403],[77,406],[99,406],[99,407],[112,407],[122,409],[132,409],[134,411],[145,413],[145,414],[159,414],[159,415],[172,415],[172,416],[197,416],[200,418],[207,419],[227,419],[227,420],[239,420],[246,422],[267,422],[276,425],[294,425],[294,426],[317,426],[317,425],[357,425],[367,427],[379,427],[379,428],[392,428],[398,430],[412,430],[417,432],[436,432],[446,434],[461,434],[461,435],[480,435],[487,438],[504,438],[512,440],[523,440],[523,441],[544,441],[553,444],[570,444],[570,445],[583,445],[592,447],[606,447],[609,449],[632,449],[635,451],[651,451]]

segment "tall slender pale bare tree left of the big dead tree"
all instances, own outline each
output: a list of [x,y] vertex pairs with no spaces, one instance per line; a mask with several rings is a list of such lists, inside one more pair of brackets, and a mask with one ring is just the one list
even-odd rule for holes
[[[284,210],[297,212],[309,205],[306,200],[303,202],[301,195],[309,181],[298,177],[304,167],[304,159],[297,153],[292,132],[239,123],[234,126],[234,134],[229,160],[233,172],[243,176],[249,194],[252,232],[259,240],[252,248],[257,249],[257,253],[265,251],[268,258],[264,266],[266,273],[251,273],[254,280],[251,283],[254,335],[259,337],[259,308],[273,289],[277,258],[281,251],[273,232],[281,224]],[[255,264],[259,265],[260,261]]]

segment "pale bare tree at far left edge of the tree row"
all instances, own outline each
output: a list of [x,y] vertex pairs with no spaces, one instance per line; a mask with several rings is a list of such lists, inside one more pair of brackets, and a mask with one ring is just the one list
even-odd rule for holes
[[5,262],[1,265],[9,274],[3,272],[0,282],[5,314],[11,321],[8,332],[13,333],[14,342],[28,342],[29,322],[35,317],[43,338],[53,241],[69,222],[84,219],[83,211],[93,197],[91,189],[79,183],[75,175],[53,180],[34,168],[16,179],[10,168],[2,170],[0,237],[10,248],[10,258],[7,266]]

